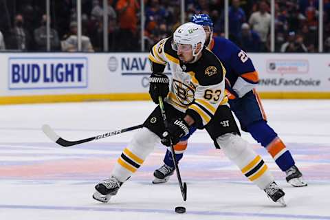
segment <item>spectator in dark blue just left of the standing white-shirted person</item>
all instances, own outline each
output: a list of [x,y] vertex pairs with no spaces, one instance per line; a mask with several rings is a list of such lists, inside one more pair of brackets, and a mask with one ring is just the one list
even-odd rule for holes
[[239,36],[241,48],[245,52],[260,52],[260,37],[256,32],[250,30],[248,23],[243,23]]

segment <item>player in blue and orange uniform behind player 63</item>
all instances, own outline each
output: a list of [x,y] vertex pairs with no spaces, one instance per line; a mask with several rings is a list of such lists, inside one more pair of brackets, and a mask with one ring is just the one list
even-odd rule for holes
[[[254,140],[270,153],[278,168],[285,173],[285,179],[289,184],[295,187],[307,186],[307,182],[296,166],[289,148],[285,146],[267,122],[267,115],[256,91],[259,74],[254,68],[251,58],[228,39],[220,36],[212,37],[213,22],[208,14],[195,14],[191,21],[203,26],[206,32],[205,45],[221,60],[225,67],[225,89],[229,98],[228,103],[237,120],[239,120],[242,131],[250,133]],[[179,148],[179,153],[175,153],[177,162],[184,156],[188,138],[193,132],[194,129],[190,129],[189,134],[181,137],[180,142],[175,145],[175,149]],[[170,151],[166,151],[163,161],[164,165],[157,168],[153,173],[155,177],[153,184],[168,181],[174,173],[175,166]]]

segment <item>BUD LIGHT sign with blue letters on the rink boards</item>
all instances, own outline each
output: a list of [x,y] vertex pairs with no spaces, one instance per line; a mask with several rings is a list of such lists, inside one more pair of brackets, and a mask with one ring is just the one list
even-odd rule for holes
[[87,87],[85,57],[11,57],[9,89],[70,89]]

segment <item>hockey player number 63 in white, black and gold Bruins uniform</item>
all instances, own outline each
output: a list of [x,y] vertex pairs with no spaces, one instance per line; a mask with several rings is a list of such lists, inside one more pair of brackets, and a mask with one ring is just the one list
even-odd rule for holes
[[[156,144],[177,144],[190,127],[206,129],[214,142],[246,177],[275,202],[284,203],[278,187],[260,155],[240,137],[225,96],[225,69],[221,61],[204,47],[206,34],[201,25],[184,23],[173,36],[159,41],[150,52],[152,74],[149,93],[158,104],[162,97],[170,123],[165,129],[159,107],[148,116],[118,158],[109,179],[96,185],[94,199],[107,202],[122,184],[140,168]],[[170,65],[172,78],[163,74]],[[169,135],[163,136],[167,131]]]

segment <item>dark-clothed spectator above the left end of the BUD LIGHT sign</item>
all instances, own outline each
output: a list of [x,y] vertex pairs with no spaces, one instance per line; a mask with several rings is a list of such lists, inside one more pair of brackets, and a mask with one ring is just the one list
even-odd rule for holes
[[7,48],[10,50],[28,51],[32,47],[32,37],[24,27],[24,19],[21,14],[17,14],[12,28],[6,37]]

